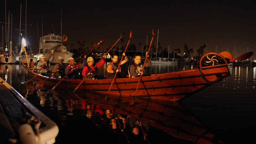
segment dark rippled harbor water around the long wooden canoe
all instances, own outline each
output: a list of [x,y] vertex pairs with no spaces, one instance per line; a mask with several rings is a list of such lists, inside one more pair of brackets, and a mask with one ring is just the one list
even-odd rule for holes
[[[104,65],[100,75],[105,74]],[[152,64],[146,74],[197,68]],[[51,66],[53,68],[53,66]],[[102,101],[105,95],[25,85],[22,65],[0,64],[0,76],[59,127],[56,143],[255,143],[256,67],[233,66],[232,75],[181,103],[136,99]],[[126,65],[122,74],[127,75]],[[128,117],[128,118],[127,118]],[[141,121],[140,126],[136,121]],[[132,133],[137,127],[139,134]]]

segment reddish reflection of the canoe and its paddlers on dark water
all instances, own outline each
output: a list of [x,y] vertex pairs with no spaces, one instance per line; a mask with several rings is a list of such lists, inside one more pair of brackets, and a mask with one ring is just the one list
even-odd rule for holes
[[[98,128],[107,126],[112,129],[127,143],[133,141],[135,135],[139,141],[151,143],[155,129],[162,129],[174,137],[196,143],[219,141],[179,103],[143,99],[135,99],[132,103],[133,99],[129,98],[103,101],[104,96],[90,92],[67,94],[46,89],[38,90],[37,96],[41,107],[51,107],[51,110],[58,113],[61,125],[67,125],[67,119],[72,116],[79,119],[86,117]],[[73,123],[82,123],[79,119]]]

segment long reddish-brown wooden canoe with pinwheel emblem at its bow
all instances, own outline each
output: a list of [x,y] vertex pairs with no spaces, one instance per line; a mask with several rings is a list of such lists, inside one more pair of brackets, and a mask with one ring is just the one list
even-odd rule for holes
[[[228,53],[228,52],[227,52]],[[230,54],[230,53],[229,53]],[[209,59],[214,58],[214,59]],[[230,54],[227,59],[233,59]],[[36,75],[32,70],[24,68],[33,77]],[[151,99],[162,99],[170,101],[178,101],[186,96],[190,96],[212,83],[221,81],[231,75],[232,63],[227,62],[224,56],[218,53],[207,53],[200,60],[199,69],[183,70],[168,72],[164,74],[156,74],[143,76],[141,83],[135,93],[137,83],[140,77],[119,78],[111,87],[110,95],[122,97],[143,97]],[[37,75],[37,80],[45,80],[48,77]],[[45,85],[55,86],[60,79],[50,78],[45,81]],[[63,80],[58,85],[61,88],[74,89],[81,80]],[[85,80],[78,87],[92,92],[107,94],[112,79],[103,80]]]

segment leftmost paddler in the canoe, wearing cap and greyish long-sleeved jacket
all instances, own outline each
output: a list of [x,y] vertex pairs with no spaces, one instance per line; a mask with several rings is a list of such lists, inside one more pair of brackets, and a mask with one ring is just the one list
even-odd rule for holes
[[39,74],[41,74],[41,75],[44,75],[44,76],[51,76],[52,75],[52,72],[49,70],[49,61],[45,61],[45,56],[44,55],[42,55],[41,57],[40,57],[40,61],[37,63],[37,69],[39,70],[39,69],[41,69],[40,70],[40,72],[39,72]]

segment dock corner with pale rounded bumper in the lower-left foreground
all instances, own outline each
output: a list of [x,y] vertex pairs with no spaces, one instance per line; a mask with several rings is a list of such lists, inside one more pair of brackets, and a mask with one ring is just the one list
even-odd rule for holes
[[58,126],[1,77],[0,81],[1,143],[55,143]]

